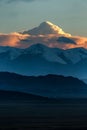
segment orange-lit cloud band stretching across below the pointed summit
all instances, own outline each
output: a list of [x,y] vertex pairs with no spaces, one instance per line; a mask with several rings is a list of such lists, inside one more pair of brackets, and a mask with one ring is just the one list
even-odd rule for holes
[[[32,44],[43,43],[49,47],[69,49],[76,47],[87,48],[87,38],[80,36],[67,36],[75,41],[76,44],[59,43],[57,39],[62,35],[29,35],[20,33],[0,34],[0,46],[11,46],[18,48],[27,48]],[[63,35],[64,36],[64,35]]]

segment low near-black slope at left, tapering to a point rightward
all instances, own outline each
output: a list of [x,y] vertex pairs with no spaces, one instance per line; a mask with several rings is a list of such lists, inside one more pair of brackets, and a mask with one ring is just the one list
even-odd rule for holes
[[[52,101],[53,99],[49,99],[47,97],[42,97],[38,95],[23,93],[23,92],[16,92],[16,91],[5,91],[0,90],[0,103],[4,102],[40,102],[40,101]],[[54,100],[53,100],[54,101]]]

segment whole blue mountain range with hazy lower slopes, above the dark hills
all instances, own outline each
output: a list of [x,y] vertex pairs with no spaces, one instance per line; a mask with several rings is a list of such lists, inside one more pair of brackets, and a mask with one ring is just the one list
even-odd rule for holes
[[26,49],[0,47],[0,71],[22,75],[58,74],[86,79],[87,50],[58,49],[35,44]]

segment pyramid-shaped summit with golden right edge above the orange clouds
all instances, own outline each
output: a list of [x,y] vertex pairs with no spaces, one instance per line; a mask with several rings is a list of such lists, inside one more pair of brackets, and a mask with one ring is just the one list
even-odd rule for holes
[[41,23],[38,27],[35,27],[34,29],[24,31],[23,34],[31,34],[31,35],[57,34],[57,35],[71,36],[71,34],[65,33],[60,27],[49,21]]

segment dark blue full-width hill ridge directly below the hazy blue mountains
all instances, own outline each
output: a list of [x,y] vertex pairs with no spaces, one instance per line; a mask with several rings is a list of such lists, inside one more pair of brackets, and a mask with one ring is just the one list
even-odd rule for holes
[[84,82],[58,75],[34,77],[0,72],[0,89],[44,97],[87,97],[87,85]]

